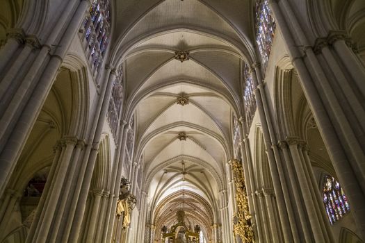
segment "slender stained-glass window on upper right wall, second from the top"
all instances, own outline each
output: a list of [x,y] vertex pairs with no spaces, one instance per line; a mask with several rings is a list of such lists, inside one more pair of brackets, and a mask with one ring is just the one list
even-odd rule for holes
[[250,67],[245,64],[243,67],[243,79],[244,79],[244,94],[243,101],[245,106],[245,115],[248,130],[252,124],[252,119],[254,119],[254,112],[256,111],[256,100],[254,99],[254,83],[252,82],[252,77],[250,75]]

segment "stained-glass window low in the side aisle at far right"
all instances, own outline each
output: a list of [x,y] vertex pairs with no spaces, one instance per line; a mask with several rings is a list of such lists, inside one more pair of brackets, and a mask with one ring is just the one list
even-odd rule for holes
[[325,177],[323,203],[325,203],[325,210],[331,224],[339,221],[343,215],[350,211],[347,197],[343,193],[340,183],[332,176]]

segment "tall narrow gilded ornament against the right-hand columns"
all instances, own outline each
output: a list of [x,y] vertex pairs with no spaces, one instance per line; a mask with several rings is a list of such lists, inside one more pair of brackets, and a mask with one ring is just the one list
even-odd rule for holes
[[234,184],[236,185],[237,212],[233,217],[234,234],[238,235],[243,243],[254,242],[254,231],[252,230],[251,215],[248,209],[242,163],[235,159],[229,161],[229,163],[232,167]]

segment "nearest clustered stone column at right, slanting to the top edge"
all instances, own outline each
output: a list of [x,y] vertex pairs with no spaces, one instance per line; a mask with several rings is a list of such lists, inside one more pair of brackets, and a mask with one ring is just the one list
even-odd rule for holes
[[365,238],[365,67],[346,33],[327,29],[327,37],[318,37],[311,47],[288,1],[272,0],[269,4],[336,175],[355,212],[357,228]]

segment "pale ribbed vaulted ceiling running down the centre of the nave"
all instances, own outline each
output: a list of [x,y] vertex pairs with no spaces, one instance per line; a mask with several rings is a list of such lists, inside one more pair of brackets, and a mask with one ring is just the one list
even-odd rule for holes
[[[134,0],[116,8],[112,56],[124,65],[126,118],[136,117],[134,154],[144,161],[151,223],[169,228],[184,208],[209,237],[227,188],[242,65],[254,56],[252,3]],[[177,51],[188,51],[188,60],[177,60]]]

